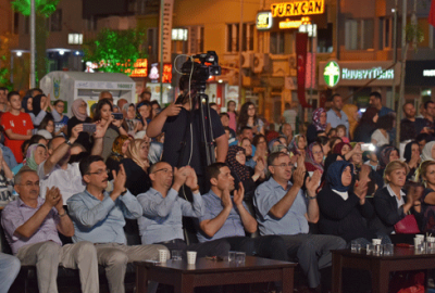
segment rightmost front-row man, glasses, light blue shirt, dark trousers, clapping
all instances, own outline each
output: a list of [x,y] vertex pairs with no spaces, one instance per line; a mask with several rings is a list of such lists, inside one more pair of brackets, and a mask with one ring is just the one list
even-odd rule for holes
[[[321,174],[303,182],[306,169],[303,157],[298,160],[298,168],[293,173],[294,165],[287,154],[272,153],[268,158],[272,177],[256,190],[253,205],[261,235],[281,235],[285,242],[288,255],[296,258],[308,278],[311,289],[318,289],[321,283],[320,271],[331,267],[331,250],[345,249],[346,242],[334,235],[309,233],[309,222],[318,222],[319,205],[315,190],[319,187]],[[293,176],[294,183],[289,182]],[[302,186],[307,188],[307,196]],[[330,280],[331,281],[331,280]]]

